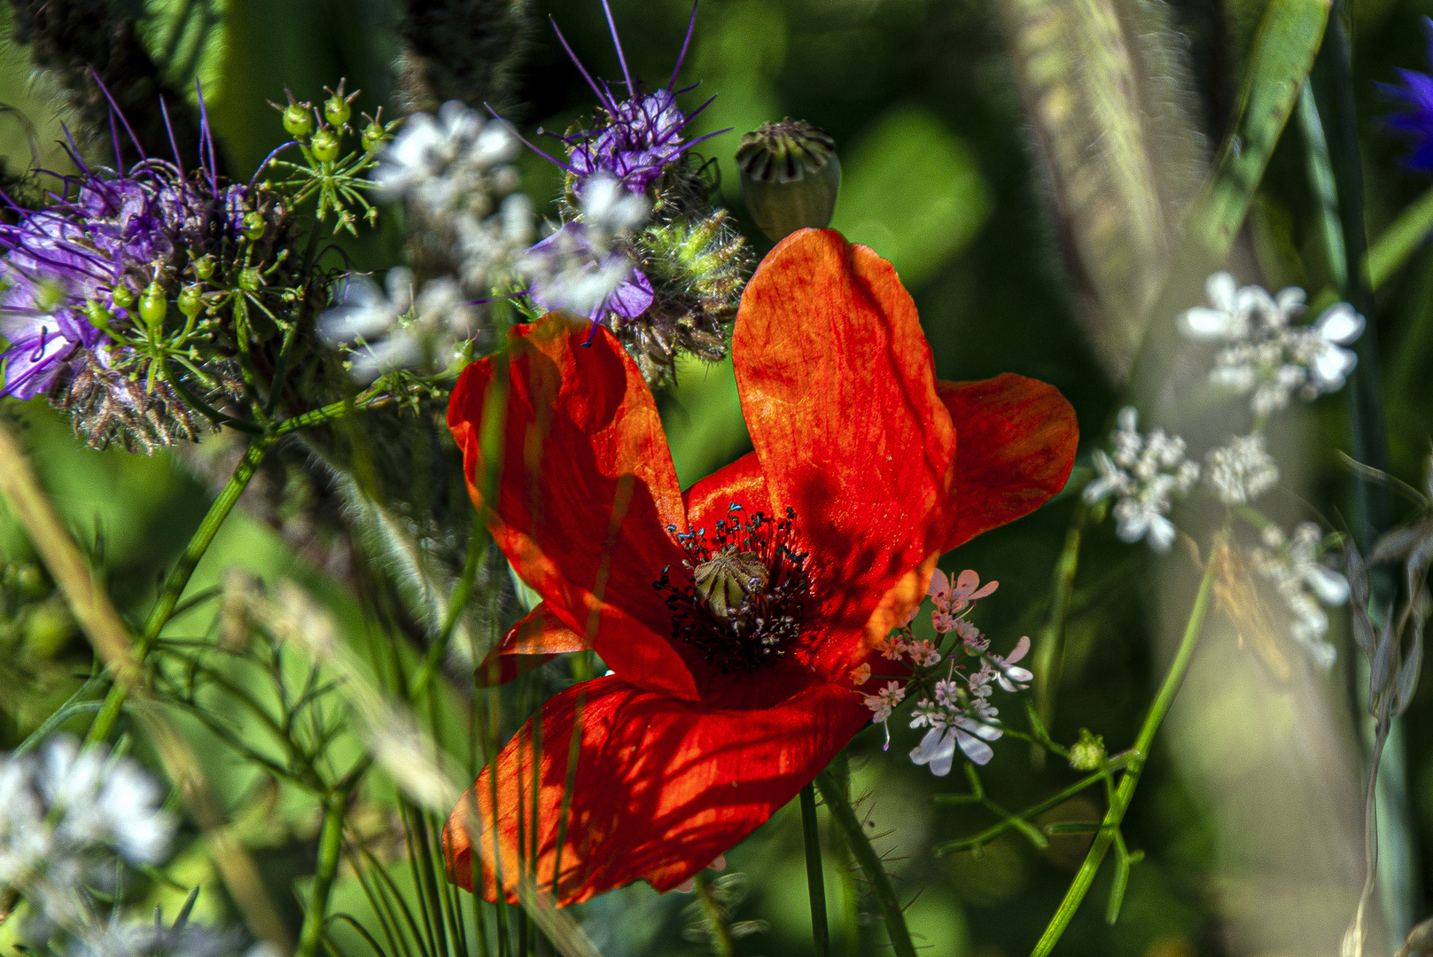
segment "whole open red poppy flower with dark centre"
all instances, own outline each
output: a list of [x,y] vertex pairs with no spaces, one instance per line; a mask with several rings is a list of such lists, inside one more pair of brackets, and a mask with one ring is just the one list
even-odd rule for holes
[[896,271],[833,231],[788,236],[748,284],[732,360],[755,451],[686,491],[636,365],[605,330],[582,348],[588,328],[513,330],[504,383],[474,362],[449,407],[480,504],[476,477],[500,466],[489,523],[543,597],[499,676],[580,648],[612,669],[543,705],[536,769],[529,729],[500,752],[496,827],[487,771],[454,811],[453,878],[471,890],[481,819],[489,898],[497,852],[509,895],[523,870],[566,904],[671,890],[751,834],[870,722],[848,673],[936,559],[1036,509],[1075,457],[1052,387],[937,383]]

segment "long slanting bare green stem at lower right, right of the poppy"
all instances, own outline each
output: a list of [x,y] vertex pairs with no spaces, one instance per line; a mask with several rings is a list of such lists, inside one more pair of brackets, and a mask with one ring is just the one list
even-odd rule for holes
[[1149,706],[1149,713],[1145,715],[1145,723],[1139,728],[1139,736],[1135,738],[1134,751],[1139,754],[1139,759],[1131,764],[1129,769],[1125,771],[1125,776],[1119,779],[1119,789],[1115,792],[1115,799],[1109,802],[1109,809],[1101,822],[1099,834],[1095,835],[1089,854],[1085,855],[1085,862],[1080,864],[1075,881],[1065,893],[1065,900],[1060,901],[1060,907],[1055,911],[1055,917],[1050,918],[1045,934],[1040,936],[1039,943],[1035,944],[1035,950],[1030,951],[1030,957],[1048,957],[1055,950],[1055,944],[1059,943],[1065,928],[1069,927],[1070,920],[1075,917],[1075,911],[1079,910],[1080,903],[1085,900],[1085,894],[1089,893],[1089,887],[1095,881],[1095,874],[1099,871],[1105,854],[1109,851],[1111,844],[1115,842],[1119,824],[1125,819],[1125,811],[1129,809],[1129,802],[1135,797],[1135,788],[1139,787],[1139,775],[1149,756],[1149,746],[1154,744],[1159,725],[1164,723],[1165,715],[1169,713],[1169,705],[1179,692],[1184,675],[1189,669],[1189,660],[1194,658],[1199,632],[1204,630],[1204,617],[1209,610],[1209,597],[1214,593],[1214,562],[1209,562],[1204,569],[1204,577],[1199,580],[1199,592],[1195,595],[1194,609],[1189,612],[1189,623],[1185,625],[1184,638],[1179,639],[1179,650],[1175,652],[1169,672],[1159,686],[1159,693],[1155,695],[1155,701]]

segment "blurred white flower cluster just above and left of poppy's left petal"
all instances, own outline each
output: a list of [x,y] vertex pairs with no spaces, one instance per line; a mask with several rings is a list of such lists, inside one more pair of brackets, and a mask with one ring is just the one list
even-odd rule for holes
[[461,358],[479,332],[479,317],[454,279],[433,279],[414,297],[413,274],[398,266],[388,271],[385,287],[351,272],[338,305],[318,317],[318,335],[348,352],[355,381],[367,384],[400,368],[441,371]]

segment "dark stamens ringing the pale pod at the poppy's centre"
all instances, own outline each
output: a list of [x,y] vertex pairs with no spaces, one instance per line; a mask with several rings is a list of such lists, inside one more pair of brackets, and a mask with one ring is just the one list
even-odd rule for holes
[[676,532],[686,550],[689,583],[672,583],[671,566],[652,583],[672,610],[672,636],[695,645],[721,672],[751,673],[780,660],[801,630],[801,599],[810,593],[805,552],[791,547],[795,511],[781,520],[732,504],[706,529]]

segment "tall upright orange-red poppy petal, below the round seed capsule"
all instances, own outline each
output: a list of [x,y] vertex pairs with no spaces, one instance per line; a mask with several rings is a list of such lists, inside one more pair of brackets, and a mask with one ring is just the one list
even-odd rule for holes
[[916,304],[876,252],[804,229],[747,285],[732,358],[772,503],[797,513],[817,620],[860,635],[954,523],[956,430]]

